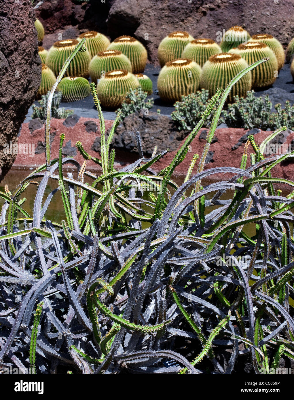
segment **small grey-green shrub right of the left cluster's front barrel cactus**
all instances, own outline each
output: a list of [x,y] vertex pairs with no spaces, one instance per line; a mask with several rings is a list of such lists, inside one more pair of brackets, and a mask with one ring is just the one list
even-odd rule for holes
[[122,103],[121,108],[118,108],[116,113],[122,112],[121,119],[123,120],[126,116],[133,114],[134,112],[140,111],[142,108],[150,110],[153,107],[153,98],[148,99],[146,102],[147,93],[143,91],[141,86],[136,89],[130,90],[126,95],[126,100]]

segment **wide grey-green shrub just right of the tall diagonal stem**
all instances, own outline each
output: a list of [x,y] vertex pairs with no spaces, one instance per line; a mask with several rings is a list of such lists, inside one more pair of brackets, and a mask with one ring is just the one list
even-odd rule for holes
[[235,102],[223,111],[224,122],[230,128],[260,128],[266,130],[272,110],[268,96],[255,97],[254,90],[247,92],[246,98],[234,96]]

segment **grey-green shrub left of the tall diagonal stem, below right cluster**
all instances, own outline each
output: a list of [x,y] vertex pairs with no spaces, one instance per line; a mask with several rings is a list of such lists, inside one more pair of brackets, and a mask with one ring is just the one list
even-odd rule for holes
[[[198,90],[196,93],[182,96],[182,101],[174,104],[175,111],[172,112],[172,120],[176,123],[178,130],[192,130],[201,119],[206,110],[209,100],[209,91]],[[213,114],[208,115],[204,125],[208,127],[212,121]]]

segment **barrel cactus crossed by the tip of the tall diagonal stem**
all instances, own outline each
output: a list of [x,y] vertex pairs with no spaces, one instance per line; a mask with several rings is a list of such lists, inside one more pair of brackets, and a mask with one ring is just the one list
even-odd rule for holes
[[229,53],[240,54],[249,65],[268,57],[267,62],[259,64],[252,70],[252,88],[262,88],[270,86],[277,78],[278,61],[274,52],[262,42],[248,42],[240,44],[236,49],[232,49]]

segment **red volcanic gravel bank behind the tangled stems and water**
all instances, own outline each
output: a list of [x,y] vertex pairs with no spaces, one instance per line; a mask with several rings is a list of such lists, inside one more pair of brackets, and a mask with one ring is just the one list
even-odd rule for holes
[[[71,146],[75,146],[76,142],[80,140],[85,150],[88,153],[90,153],[94,157],[98,156],[100,158],[97,152],[91,150],[91,146],[96,136],[100,135],[99,120],[91,118],[91,121],[94,121],[98,126],[98,132],[90,132],[90,133],[86,132],[86,127],[84,125],[84,122],[86,121],[89,121],[89,118],[80,117],[78,123],[74,127],[67,128],[62,124],[64,122],[64,119],[54,119],[54,118],[52,119],[50,132],[55,134],[51,147],[52,158],[58,158],[59,138],[61,133],[65,134],[64,145],[69,140],[71,140]],[[110,128],[110,126],[112,126],[112,121],[106,120],[105,129],[107,130],[108,128]],[[43,128],[41,129],[35,130],[34,132],[32,132],[32,134],[30,134],[28,123],[22,124],[22,129],[20,132],[20,136],[18,138],[18,143],[28,143],[28,144],[34,143],[36,149],[38,141],[44,142],[44,129],[45,126],[43,126]],[[217,129],[216,137],[218,138],[218,141],[210,145],[210,151],[214,152],[213,155],[214,161],[206,164],[204,169],[215,168],[220,166],[232,166],[239,168],[242,154],[244,151],[244,144],[239,146],[234,151],[232,151],[232,146],[234,146],[234,144],[236,144],[239,141],[240,137],[243,136],[246,132],[247,131],[244,129],[235,129],[235,128]],[[270,131],[266,132],[261,131],[260,133],[256,134],[254,138],[257,144],[260,144],[267,136],[270,135],[270,133],[271,133]],[[294,139],[294,132],[291,132],[285,143],[290,144],[293,139]],[[181,142],[181,145],[183,142]],[[188,152],[186,159],[176,168],[175,171],[176,174],[178,175],[186,174],[192,156],[195,153],[198,153],[201,156],[204,144],[205,140],[199,140],[199,134],[198,134],[191,144],[191,148],[189,149],[191,151]],[[253,152],[251,146],[249,146],[248,148],[247,166],[249,166],[250,152]],[[156,171],[162,170],[163,168],[165,168],[170,164],[175,153],[176,153],[175,151],[169,152],[168,154],[166,154],[166,156],[164,156],[164,158],[159,160],[155,164],[155,166],[152,166],[152,168]],[[78,160],[78,162],[80,163],[84,161],[78,150],[76,150],[76,156],[74,156],[74,158]],[[122,168],[122,166],[126,166],[127,164],[134,162],[137,158],[138,156],[136,155],[136,153],[116,150],[115,168],[120,169]],[[30,167],[36,168],[37,166],[44,164],[44,162],[45,162],[45,153],[34,154],[33,156],[31,156],[30,154],[18,154],[16,157],[16,161],[14,162],[14,168],[30,168]],[[194,172],[196,171],[197,165],[198,162],[196,162]],[[94,164],[94,162],[92,161],[88,162],[87,169],[97,172],[101,170],[101,168],[97,164]],[[228,174],[227,176],[229,177]],[[282,165],[278,164],[277,166],[275,166],[274,169],[272,170],[272,176],[294,180],[293,161],[290,160],[288,162],[284,162]],[[211,178],[220,179],[223,178],[223,176],[222,174],[218,174],[211,176]]]

